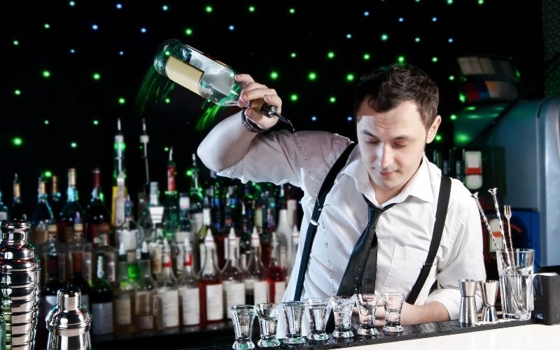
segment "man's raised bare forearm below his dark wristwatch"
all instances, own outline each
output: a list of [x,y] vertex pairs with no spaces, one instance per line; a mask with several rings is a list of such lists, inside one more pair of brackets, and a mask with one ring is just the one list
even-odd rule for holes
[[241,112],[225,118],[198,146],[197,154],[209,169],[220,172],[239,162],[257,134],[241,125]]

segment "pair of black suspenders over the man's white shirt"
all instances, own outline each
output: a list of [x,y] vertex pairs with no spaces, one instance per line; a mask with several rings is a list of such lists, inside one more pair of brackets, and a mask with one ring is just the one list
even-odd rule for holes
[[[344,150],[344,153],[340,155],[340,157],[335,162],[335,165],[332,165],[332,168],[328,172],[325,181],[323,181],[323,185],[321,185],[321,190],[319,190],[317,201],[315,202],[315,207],[313,209],[313,214],[311,215],[311,220],[309,226],[307,227],[307,235],[305,236],[302,258],[300,261],[300,269],[297,275],[297,283],[295,285],[293,300],[300,300],[302,296],[303,281],[305,278],[305,272],[307,271],[307,265],[309,264],[309,254],[311,253],[311,246],[313,245],[315,233],[317,231],[318,218],[321,215],[325,197],[332,188],[332,185],[335,183],[336,176],[338,175],[340,170],[342,170],[344,165],[346,165],[346,160],[348,160],[348,157],[355,146],[356,143],[350,144],[346,148],[346,150]],[[432,240],[430,241],[430,248],[428,250],[428,257],[426,258],[426,262],[424,262],[420,274],[407,297],[407,302],[409,304],[414,304],[414,302],[416,301],[416,298],[420,294],[420,290],[422,289],[424,283],[426,283],[426,279],[430,274],[430,269],[433,266],[437,248],[440,246],[440,241],[442,238],[445,217],[447,216],[447,206],[449,204],[450,192],[451,179],[449,179],[449,177],[447,176],[442,176],[442,180],[440,183],[440,193],[437,200],[437,210],[435,213],[435,224],[433,227]]]

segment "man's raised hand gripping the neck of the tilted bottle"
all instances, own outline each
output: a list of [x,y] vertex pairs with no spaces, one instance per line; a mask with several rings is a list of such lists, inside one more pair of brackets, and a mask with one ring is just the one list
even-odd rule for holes
[[244,108],[247,104],[249,106],[245,111],[246,118],[251,119],[262,129],[268,129],[276,125],[278,118],[274,116],[272,118],[265,117],[251,108],[251,103],[254,100],[264,99],[267,104],[275,106],[276,111],[281,113],[282,99],[276,94],[276,90],[270,89],[266,85],[255,83],[255,80],[248,74],[236,74],[235,80],[243,86],[243,90],[239,94],[239,100],[237,100],[237,106],[241,108]]

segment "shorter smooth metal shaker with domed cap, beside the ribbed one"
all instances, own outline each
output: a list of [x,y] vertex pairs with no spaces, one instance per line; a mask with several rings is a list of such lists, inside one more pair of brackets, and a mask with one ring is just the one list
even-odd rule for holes
[[92,318],[81,304],[80,288],[58,290],[57,304],[47,315],[47,350],[90,350]]

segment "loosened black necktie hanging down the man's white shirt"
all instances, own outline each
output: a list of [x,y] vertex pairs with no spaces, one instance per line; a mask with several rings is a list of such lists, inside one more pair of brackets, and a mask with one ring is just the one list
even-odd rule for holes
[[[356,242],[350,255],[348,265],[342,276],[342,282],[338,287],[337,295],[353,295],[354,293],[374,293],[375,274],[377,271],[377,235],[375,226],[379,216],[395,203],[389,204],[383,209],[375,207],[372,202],[363,199],[367,203],[367,225]],[[357,290],[357,291],[356,291]],[[334,329],[334,318],[332,313],[327,323],[327,330]]]

